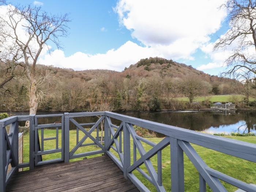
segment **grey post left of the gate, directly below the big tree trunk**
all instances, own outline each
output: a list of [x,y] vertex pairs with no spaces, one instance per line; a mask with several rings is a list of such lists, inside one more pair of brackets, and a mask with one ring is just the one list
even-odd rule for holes
[[29,169],[35,167],[35,114],[29,116]]

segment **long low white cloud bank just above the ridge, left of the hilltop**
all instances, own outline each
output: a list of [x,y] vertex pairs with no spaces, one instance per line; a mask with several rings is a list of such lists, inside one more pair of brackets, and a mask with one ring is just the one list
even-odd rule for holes
[[66,57],[62,50],[54,50],[51,54],[45,54],[39,59],[39,63],[54,65],[57,67],[84,69],[111,69],[122,71],[125,67],[136,63],[141,58],[162,56],[161,53],[147,47],[139,46],[127,41],[120,48],[111,49],[104,54],[86,54],[76,52]]

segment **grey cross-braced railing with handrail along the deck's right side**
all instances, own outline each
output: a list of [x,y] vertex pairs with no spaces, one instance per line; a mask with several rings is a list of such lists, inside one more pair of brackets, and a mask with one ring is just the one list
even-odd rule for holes
[[[249,185],[236,178],[230,177],[217,170],[214,170],[206,165],[203,159],[196,153],[190,143],[210,148],[221,153],[239,157],[245,160],[256,162],[256,145],[251,143],[240,142],[237,140],[221,138],[218,136],[212,136],[204,133],[198,133],[182,128],[173,127],[170,125],[164,125],[147,120],[141,120],[134,117],[128,117],[116,113],[106,112],[106,116],[116,118],[123,121],[124,138],[131,136],[133,142],[133,163],[128,160],[128,163],[124,165],[124,174],[131,179],[131,181],[141,190],[150,191],[140,181],[135,174],[134,170],[137,170],[144,178],[146,178],[151,184],[154,185],[157,191],[165,191],[162,186],[161,173],[161,151],[166,146],[170,145],[170,157],[171,157],[171,187],[172,191],[184,191],[184,153],[187,155],[192,164],[199,172],[199,188],[200,192],[206,191],[206,184],[216,192],[225,192],[226,188],[223,186],[222,181],[227,182],[235,187],[243,189],[249,192],[255,192],[256,187]],[[137,125],[151,131],[159,132],[166,137],[161,142],[155,144],[149,140],[138,136],[133,129],[133,125]],[[127,130],[127,131],[125,131]],[[128,135],[128,136],[127,136]],[[127,140],[127,139],[126,139]],[[143,144],[151,145],[149,151],[145,151]],[[131,154],[130,144],[125,144],[124,148],[124,162],[127,161],[127,157]],[[129,148],[128,150],[126,148]],[[136,152],[139,151],[140,158],[136,157]],[[252,151],[251,151],[252,150]],[[129,154],[126,154],[129,153]],[[157,155],[157,169],[154,168],[150,158]],[[125,164],[125,163],[124,163]],[[139,166],[145,165],[148,174],[145,169],[140,169]]]

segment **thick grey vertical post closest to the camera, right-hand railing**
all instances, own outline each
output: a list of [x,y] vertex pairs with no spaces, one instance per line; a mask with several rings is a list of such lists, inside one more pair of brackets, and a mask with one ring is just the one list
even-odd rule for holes
[[170,138],[172,191],[184,192],[184,158],[178,140]]

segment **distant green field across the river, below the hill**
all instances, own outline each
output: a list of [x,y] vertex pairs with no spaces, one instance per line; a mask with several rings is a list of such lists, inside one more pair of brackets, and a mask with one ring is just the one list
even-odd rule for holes
[[[238,101],[242,101],[243,95],[212,95],[205,97],[196,97],[194,102],[202,102],[205,100],[209,100],[211,102],[234,102],[234,97],[237,98]],[[178,101],[189,101],[188,97],[178,97]],[[250,97],[250,101],[254,101],[255,98]]]

